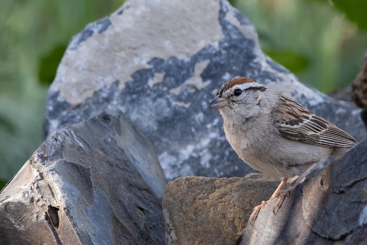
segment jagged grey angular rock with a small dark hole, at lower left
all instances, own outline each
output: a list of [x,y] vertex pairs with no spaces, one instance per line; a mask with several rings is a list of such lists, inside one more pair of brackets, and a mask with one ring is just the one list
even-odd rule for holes
[[103,113],[48,138],[2,190],[0,244],[164,244],[165,184],[152,144]]

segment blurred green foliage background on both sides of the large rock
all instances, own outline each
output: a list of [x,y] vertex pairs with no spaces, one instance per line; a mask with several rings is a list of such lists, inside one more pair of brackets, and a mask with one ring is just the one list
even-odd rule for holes
[[[1,0],[0,187],[41,144],[44,103],[71,37],[123,0]],[[320,91],[349,86],[367,44],[365,0],[232,0],[272,59]],[[1,189],[1,188],[0,188]]]

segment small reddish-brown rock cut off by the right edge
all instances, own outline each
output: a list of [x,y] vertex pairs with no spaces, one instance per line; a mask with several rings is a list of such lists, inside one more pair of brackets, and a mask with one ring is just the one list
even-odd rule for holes
[[367,51],[364,54],[359,73],[352,84],[352,98],[358,106],[367,110]]

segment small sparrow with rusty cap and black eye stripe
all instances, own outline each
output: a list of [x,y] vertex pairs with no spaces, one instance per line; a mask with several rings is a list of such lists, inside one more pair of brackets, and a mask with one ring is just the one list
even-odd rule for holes
[[[210,108],[218,108],[224,132],[233,150],[251,168],[284,178],[268,201],[256,206],[255,215],[268,202],[284,197],[330,155],[342,155],[357,141],[291,98],[278,94],[248,77],[223,84]],[[288,178],[298,178],[281,190]]]

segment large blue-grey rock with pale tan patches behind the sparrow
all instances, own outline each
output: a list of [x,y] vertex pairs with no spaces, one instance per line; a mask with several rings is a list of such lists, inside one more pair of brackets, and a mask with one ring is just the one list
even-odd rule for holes
[[225,0],[128,0],[70,43],[48,91],[44,135],[120,109],[152,141],[168,179],[252,169],[208,109],[227,80],[249,76],[346,130],[367,136],[361,109],[302,84],[266,57],[254,27]]

